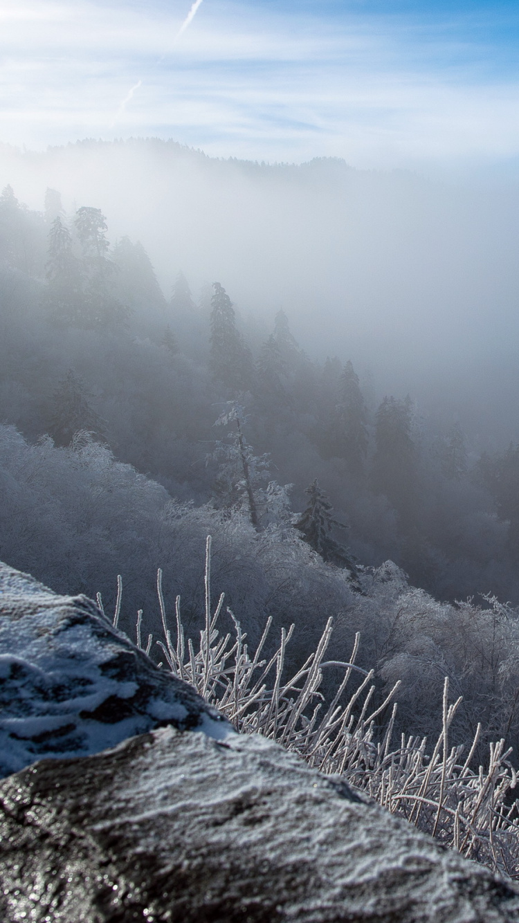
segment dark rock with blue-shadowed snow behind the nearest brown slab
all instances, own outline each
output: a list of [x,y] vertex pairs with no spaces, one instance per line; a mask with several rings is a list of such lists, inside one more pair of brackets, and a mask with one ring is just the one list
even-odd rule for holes
[[154,727],[232,727],[159,670],[86,596],[0,563],[0,777],[43,757],[97,753]]

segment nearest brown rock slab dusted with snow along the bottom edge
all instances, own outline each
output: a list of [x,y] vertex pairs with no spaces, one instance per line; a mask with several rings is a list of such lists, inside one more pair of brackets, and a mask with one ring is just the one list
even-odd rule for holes
[[5,923],[512,923],[519,899],[261,737],[167,727],[0,785]]

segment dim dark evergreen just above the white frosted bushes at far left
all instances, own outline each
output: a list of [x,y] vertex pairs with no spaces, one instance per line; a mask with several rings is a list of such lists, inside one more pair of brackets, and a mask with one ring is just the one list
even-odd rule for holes
[[89,397],[81,379],[69,368],[65,378],[61,379],[54,391],[54,409],[49,433],[56,445],[70,445],[74,435],[80,431],[104,438],[104,421],[93,410]]

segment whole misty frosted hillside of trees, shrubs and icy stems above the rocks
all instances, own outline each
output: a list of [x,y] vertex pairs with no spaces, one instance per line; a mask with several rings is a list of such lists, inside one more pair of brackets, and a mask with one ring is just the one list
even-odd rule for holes
[[0,260],[0,557],[141,613],[235,725],[515,876],[519,445],[308,355],[220,273],[164,294],[95,201],[6,186]]

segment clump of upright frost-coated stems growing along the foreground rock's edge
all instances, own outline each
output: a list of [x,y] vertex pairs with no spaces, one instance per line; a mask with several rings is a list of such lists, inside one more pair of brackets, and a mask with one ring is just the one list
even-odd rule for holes
[[[206,545],[204,627],[197,641],[186,637],[179,596],[173,619],[168,617],[162,583],[159,569],[157,592],[163,637],[155,644],[162,652],[161,665],[195,686],[237,730],[271,737],[322,773],[344,774],[357,790],[431,833],[444,845],[519,880],[519,802],[513,797],[516,774],[510,761],[511,749],[505,748],[503,739],[490,743],[486,767],[479,765],[475,769],[475,753],[482,735],[480,724],[471,746],[450,746],[451,725],[462,698],[449,703],[448,678],[443,685],[441,733],[434,747],[428,747],[427,737],[404,735],[394,746],[396,703],[389,716],[388,706],[400,682],[394,683],[378,707],[373,706],[374,671],[356,665],[358,634],[349,661],[327,659],[332,637],[332,618],[329,619],[314,653],[290,677],[286,675],[286,651],[294,625],[281,630],[279,646],[269,657],[263,652],[272,618],[254,653],[249,652],[247,635],[229,608],[225,611],[233,630],[221,633],[223,593],[217,605],[211,606],[211,538]],[[119,579],[115,624],[121,593]],[[103,606],[101,597],[98,602]],[[153,637],[149,634],[144,640],[142,617],[139,610],[137,643],[141,650],[151,653]],[[322,681],[330,667],[342,670],[343,678],[325,701]],[[353,688],[346,692],[354,677]]]

